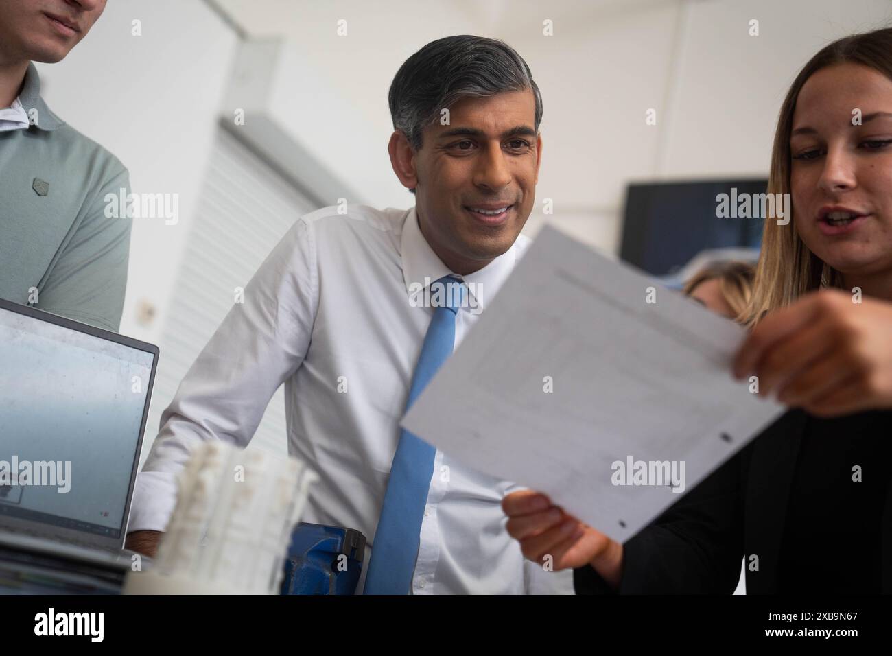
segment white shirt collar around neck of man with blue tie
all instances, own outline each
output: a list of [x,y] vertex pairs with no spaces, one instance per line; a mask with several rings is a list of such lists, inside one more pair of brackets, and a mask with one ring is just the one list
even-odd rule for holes
[[502,253],[483,269],[467,276],[458,276],[442,263],[434,253],[434,249],[427,243],[425,236],[421,234],[417,212],[413,207],[406,213],[401,237],[402,277],[406,284],[406,293],[411,300],[435,280],[443,276],[455,275],[457,278],[465,280],[468,292],[474,296],[475,302],[483,310],[499,291],[502,283],[508,279],[511,270],[514,269],[517,259],[516,248],[516,244],[512,244],[508,251]]

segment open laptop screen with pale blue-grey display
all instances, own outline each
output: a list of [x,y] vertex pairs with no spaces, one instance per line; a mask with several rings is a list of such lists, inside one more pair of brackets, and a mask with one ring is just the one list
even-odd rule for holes
[[157,365],[155,345],[0,299],[0,557],[130,569]]

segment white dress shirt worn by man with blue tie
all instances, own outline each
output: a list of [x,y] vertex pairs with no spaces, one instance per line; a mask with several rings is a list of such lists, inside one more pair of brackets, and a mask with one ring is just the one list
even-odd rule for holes
[[[518,237],[507,253],[463,277],[478,305],[468,299],[458,311],[456,345],[529,242]],[[433,316],[415,297],[450,273],[421,234],[414,208],[356,206],[339,214],[330,207],[297,220],[162,414],[136,480],[128,531],[163,530],[176,501],[175,472],[194,444],[248,444],[285,383],[289,452],[320,477],[301,519],[365,534],[361,589]],[[572,570],[549,572],[524,560],[505,530],[501,499],[521,488],[468,464],[436,453],[411,592],[572,594]]]

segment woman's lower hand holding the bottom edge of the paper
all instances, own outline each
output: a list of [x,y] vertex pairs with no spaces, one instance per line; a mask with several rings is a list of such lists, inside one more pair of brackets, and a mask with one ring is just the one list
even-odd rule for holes
[[554,506],[544,494],[524,490],[502,499],[508,515],[508,535],[520,543],[521,552],[543,564],[550,557],[554,570],[591,565],[614,587],[623,571],[623,545],[583,524]]

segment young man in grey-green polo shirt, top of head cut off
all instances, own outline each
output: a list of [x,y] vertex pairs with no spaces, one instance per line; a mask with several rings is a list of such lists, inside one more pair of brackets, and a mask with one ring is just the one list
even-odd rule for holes
[[130,223],[105,215],[127,169],[40,97],[105,0],[0,0],[0,298],[118,330]]

